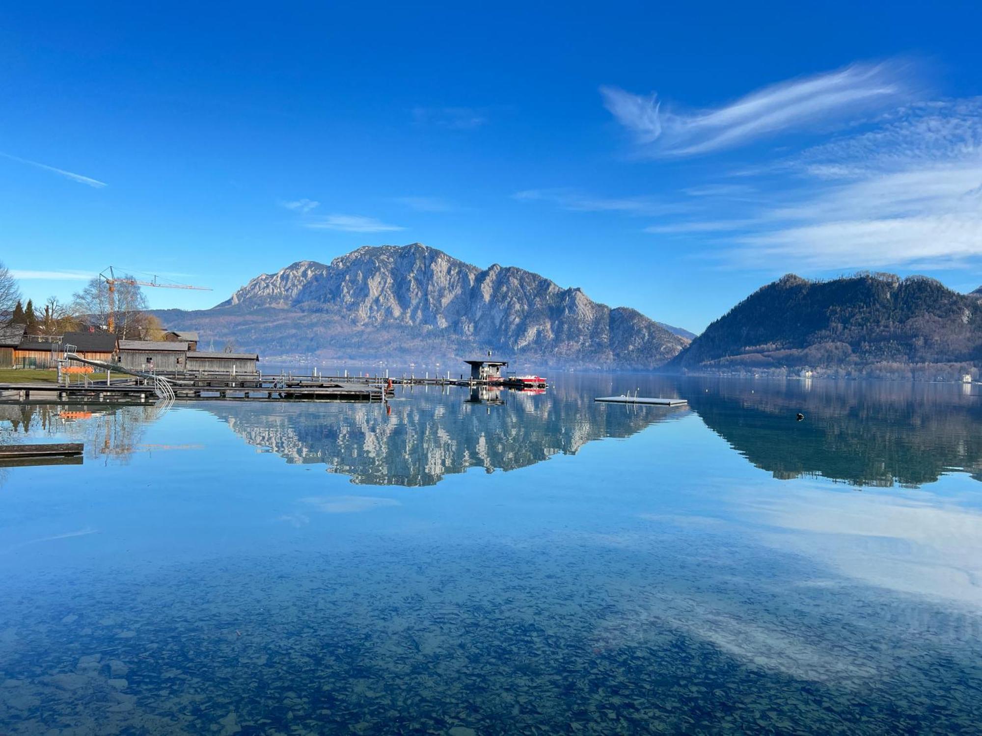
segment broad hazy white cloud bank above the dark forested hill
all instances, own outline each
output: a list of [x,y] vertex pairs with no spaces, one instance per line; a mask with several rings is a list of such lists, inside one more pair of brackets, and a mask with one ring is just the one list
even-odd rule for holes
[[783,168],[797,188],[736,238],[738,262],[943,268],[982,257],[982,99],[904,108]]

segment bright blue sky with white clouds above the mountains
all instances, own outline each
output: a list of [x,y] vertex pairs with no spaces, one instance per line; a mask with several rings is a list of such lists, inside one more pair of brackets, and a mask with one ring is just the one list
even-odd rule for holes
[[0,260],[202,308],[420,241],[695,331],[787,272],[978,287],[982,5],[795,5],[4,3]]

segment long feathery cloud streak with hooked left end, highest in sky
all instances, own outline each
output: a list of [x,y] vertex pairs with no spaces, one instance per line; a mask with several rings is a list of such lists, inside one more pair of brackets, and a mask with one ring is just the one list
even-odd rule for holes
[[853,64],[836,72],[763,87],[718,108],[685,112],[656,94],[600,88],[604,105],[650,156],[691,156],[733,148],[783,131],[814,131],[908,99],[911,64]]

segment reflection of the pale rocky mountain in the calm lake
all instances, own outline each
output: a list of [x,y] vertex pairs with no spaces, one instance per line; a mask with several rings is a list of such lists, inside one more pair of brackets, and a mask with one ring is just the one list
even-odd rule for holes
[[685,408],[607,406],[579,382],[544,394],[419,388],[371,403],[209,403],[247,443],[323,463],[354,483],[431,486],[451,473],[526,467],[602,438],[627,438]]

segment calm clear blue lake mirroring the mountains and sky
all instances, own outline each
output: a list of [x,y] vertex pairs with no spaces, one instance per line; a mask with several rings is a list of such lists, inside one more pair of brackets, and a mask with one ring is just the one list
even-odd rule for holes
[[977,732],[978,387],[499,398],[0,406],[0,733]]

